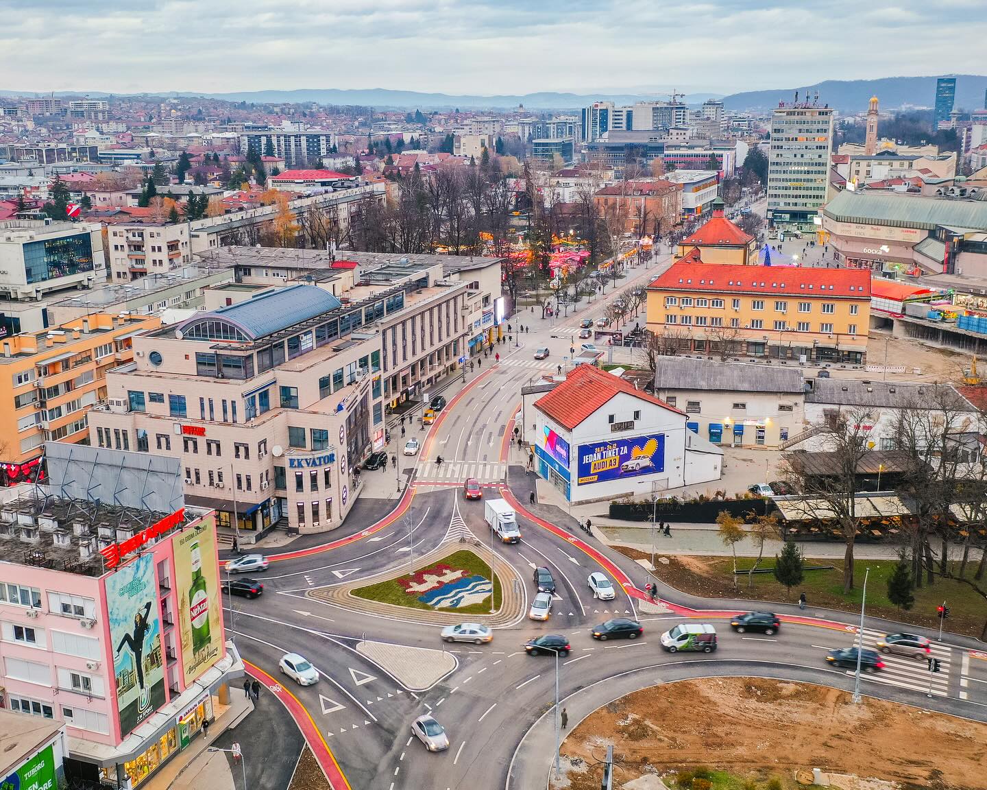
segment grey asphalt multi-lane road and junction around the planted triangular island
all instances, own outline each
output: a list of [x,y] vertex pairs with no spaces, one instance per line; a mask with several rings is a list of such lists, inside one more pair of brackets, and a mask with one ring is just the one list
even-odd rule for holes
[[[654,264],[646,272],[634,270],[616,292],[643,284],[658,271]],[[614,294],[611,291],[607,297]],[[569,655],[559,660],[563,698],[575,699],[570,695],[577,696],[587,687],[598,688],[608,678],[621,677],[622,683],[633,678],[646,685],[681,672],[749,671],[852,685],[852,673],[829,668],[824,658],[827,651],[854,642],[852,617],[826,612],[816,619],[809,610],[807,616],[787,617],[780,632],[770,637],[736,634],[725,622],[728,612],[736,610],[732,603],[727,610],[687,610],[677,600],[693,606],[695,601],[677,598],[670,590],[662,591],[670,610],[655,613],[645,604],[651,613],[644,613],[642,568],[574,529],[575,522],[567,514],[555,511],[546,520],[520,506],[521,502],[527,505],[532,481],[521,465],[522,456],[510,449],[507,440],[520,405],[520,387],[568,356],[573,328],[584,317],[601,315],[607,301],[594,298],[588,308],[554,324],[520,314],[512,323],[531,322],[520,347],[500,346],[499,363],[487,360],[470,376],[428,432],[421,454],[404,459],[404,472],[412,485],[392,514],[372,522],[363,515],[362,522],[354,522],[370,512],[357,510],[357,518],[351,515],[342,530],[331,536],[332,543],[275,556],[263,577],[266,591],[262,597],[228,602],[227,627],[246,659],[278,677],[280,657],[298,652],[321,672],[320,681],[305,688],[282,681],[307,709],[352,788],[521,787],[517,761],[509,777],[508,768],[525,732],[553,704],[556,682],[555,660],[528,656],[522,644],[545,633],[564,634],[571,645]],[[548,360],[532,358],[539,346],[551,350]],[[443,458],[441,466],[435,463],[437,455]],[[477,552],[488,556],[484,547],[490,531],[483,503],[463,500],[461,484],[466,477],[480,480],[485,497],[502,494],[520,501],[522,541],[497,547],[499,557],[509,566],[505,573],[513,577],[510,590],[518,615],[509,622],[501,618],[490,644],[446,646],[455,658],[454,669],[429,688],[413,689],[357,648],[364,641],[376,641],[441,650],[440,626],[413,622],[400,611],[394,615],[359,611],[331,596],[326,599],[322,593],[408,567],[413,554],[421,557],[443,542],[458,543],[470,534],[480,541]],[[538,510],[542,515],[549,513]],[[349,539],[341,539],[341,533]],[[551,616],[544,623],[525,616],[534,594],[532,571],[538,566],[548,567],[558,584]],[[618,586],[625,586],[615,600],[592,596],[586,580],[594,571],[603,571]],[[711,601],[708,605],[721,604]],[[636,641],[594,641],[591,627],[615,615],[641,620],[644,636]],[[718,652],[671,656],[661,650],[661,632],[686,617],[717,626]],[[885,630],[882,624],[869,621],[865,645],[873,646]],[[882,671],[865,677],[863,690],[987,719],[987,656],[971,650],[974,647],[971,640],[949,635],[943,643],[936,642],[934,655],[941,660],[942,672],[934,675],[926,671],[925,662],[887,657]],[[930,676],[932,697],[927,696]],[[429,711],[449,734],[448,751],[428,753],[412,738],[413,720]],[[524,752],[518,754],[523,761]]]

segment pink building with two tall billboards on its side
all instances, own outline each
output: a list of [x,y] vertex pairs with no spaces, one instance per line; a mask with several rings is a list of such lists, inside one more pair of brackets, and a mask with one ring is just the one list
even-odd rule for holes
[[5,707],[64,722],[66,776],[132,788],[182,751],[227,683],[214,514],[28,494],[0,506]]

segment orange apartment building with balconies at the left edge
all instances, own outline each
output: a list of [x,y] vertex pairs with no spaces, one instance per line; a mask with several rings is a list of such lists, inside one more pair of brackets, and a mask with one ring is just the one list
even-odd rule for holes
[[45,441],[85,442],[87,413],[107,396],[107,371],[132,358],[152,316],[94,313],[0,341],[0,485],[37,476]]

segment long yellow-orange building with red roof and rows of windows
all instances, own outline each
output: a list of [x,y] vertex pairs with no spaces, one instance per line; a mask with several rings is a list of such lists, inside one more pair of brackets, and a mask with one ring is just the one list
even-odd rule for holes
[[647,328],[682,350],[862,364],[871,273],[704,263],[698,250],[647,286]]

